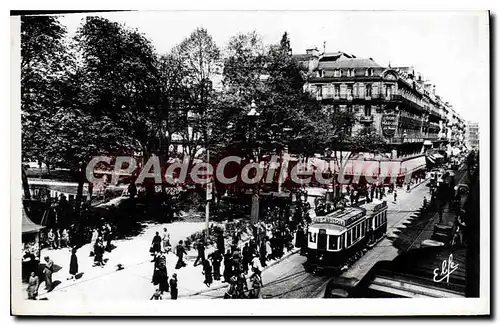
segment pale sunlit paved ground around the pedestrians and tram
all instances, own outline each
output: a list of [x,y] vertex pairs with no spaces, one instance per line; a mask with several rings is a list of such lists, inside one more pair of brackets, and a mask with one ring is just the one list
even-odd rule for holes
[[[462,176],[463,172],[457,173],[457,183],[462,180]],[[393,201],[392,194],[386,198],[389,206],[387,238],[369,250],[341,277],[354,282],[359,281],[377,261],[392,260],[398,255],[402,250],[401,243],[398,243],[399,235],[412,221],[419,219],[417,211],[422,205],[422,199],[424,196],[429,198],[429,188],[426,183],[427,181],[421,183],[409,193],[399,189],[397,202]],[[425,222],[427,223],[427,221]],[[204,223],[176,222],[166,226],[171,232],[172,243],[176,243],[189,234],[203,229]],[[117,248],[112,253],[106,254],[106,258],[109,260],[104,268],[91,267],[93,258],[88,256],[90,246],[84,246],[78,252],[80,271],[83,272],[83,276],[74,282],[66,280],[69,250],[44,250],[42,256],[50,255],[62,269],[54,274],[56,284],[60,283],[51,293],[40,292],[40,298],[64,300],[71,297],[72,300],[81,300],[81,302],[97,298],[110,300],[149,299],[154,286],[151,284],[153,264],[150,262],[151,256],[148,254],[148,249],[154,232],[160,231],[162,227],[160,224],[148,224],[141,235],[132,239],[115,241],[114,244]],[[425,236],[422,235],[423,229],[416,232],[410,236],[410,240],[405,239],[405,241],[411,242],[408,248],[421,241],[422,237]],[[224,283],[214,282],[212,288],[207,288],[203,284],[201,266],[192,266],[194,258],[195,253],[191,252],[190,256],[187,257],[188,267],[177,271],[179,275],[179,299],[222,298],[226,291]],[[280,262],[274,262],[263,273],[262,296],[264,298],[323,297],[331,277],[306,273],[303,268],[305,261],[304,256],[293,253]],[[167,256],[169,275],[175,271],[175,262],[175,255],[170,253]],[[116,270],[116,265],[119,263],[124,265],[124,270]]]

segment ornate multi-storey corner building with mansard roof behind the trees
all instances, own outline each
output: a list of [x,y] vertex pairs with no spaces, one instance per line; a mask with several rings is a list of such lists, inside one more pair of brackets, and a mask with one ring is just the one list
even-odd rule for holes
[[383,67],[372,58],[343,52],[320,54],[317,49],[295,58],[303,70],[305,91],[328,110],[353,112],[357,120],[353,133],[374,126],[398,157],[444,149],[453,135],[450,117],[456,116],[459,137],[458,115],[412,67]]

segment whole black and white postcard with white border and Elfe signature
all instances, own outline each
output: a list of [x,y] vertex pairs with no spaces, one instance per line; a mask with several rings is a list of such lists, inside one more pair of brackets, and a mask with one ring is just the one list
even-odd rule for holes
[[490,313],[488,11],[10,27],[13,315]]

